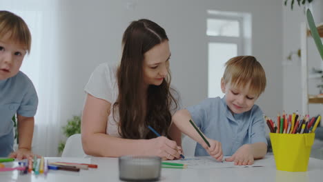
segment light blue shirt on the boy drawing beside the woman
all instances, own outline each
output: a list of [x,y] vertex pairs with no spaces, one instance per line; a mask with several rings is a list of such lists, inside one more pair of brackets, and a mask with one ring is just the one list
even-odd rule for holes
[[[242,114],[233,114],[226,106],[225,97],[208,98],[186,108],[197,127],[210,139],[222,143],[224,156],[233,155],[246,143],[267,144],[262,110],[253,108]],[[207,156],[208,152],[197,143],[195,156]]]

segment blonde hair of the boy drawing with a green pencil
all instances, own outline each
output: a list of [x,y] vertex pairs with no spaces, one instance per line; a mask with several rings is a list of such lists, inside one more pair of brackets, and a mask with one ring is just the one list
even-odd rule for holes
[[237,87],[245,87],[250,83],[249,92],[257,97],[266,88],[266,74],[262,65],[252,56],[233,57],[226,62],[224,83],[231,83]]

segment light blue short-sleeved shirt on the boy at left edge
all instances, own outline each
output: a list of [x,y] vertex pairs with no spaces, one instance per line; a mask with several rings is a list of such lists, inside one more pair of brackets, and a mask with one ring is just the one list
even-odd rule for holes
[[12,152],[14,114],[34,117],[37,105],[35,87],[26,74],[18,72],[14,77],[0,80],[0,156]]

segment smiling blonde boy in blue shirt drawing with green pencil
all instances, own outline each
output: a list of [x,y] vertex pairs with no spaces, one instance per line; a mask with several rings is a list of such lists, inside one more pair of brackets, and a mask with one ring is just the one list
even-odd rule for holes
[[[251,165],[267,151],[263,113],[254,105],[265,88],[266,75],[255,57],[233,57],[226,62],[221,79],[225,96],[208,98],[179,110],[173,121],[179,130],[197,141],[195,156],[210,154],[217,161],[231,156],[226,161]],[[190,125],[190,119],[206,135],[210,148]]]

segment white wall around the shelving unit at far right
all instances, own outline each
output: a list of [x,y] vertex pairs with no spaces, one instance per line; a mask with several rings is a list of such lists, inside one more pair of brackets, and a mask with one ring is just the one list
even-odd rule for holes
[[[315,0],[321,1],[323,0]],[[314,1],[313,1],[314,2]],[[315,3],[315,6],[317,4]],[[321,5],[321,7],[323,7]],[[322,9],[314,8],[314,10],[321,11]],[[300,25],[302,22],[306,22],[304,14],[304,8],[294,6],[293,11],[288,7],[282,7],[283,14],[283,73],[282,79],[284,84],[284,103],[283,108],[287,112],[295,112],[298,110],[300,114],[302,111],[302,88],[301,88],[301,61],[300,58],[293,56],[293,61],[288,61],[286,57],[291,51],[298,50],[300,48]],[[313,14],[317,14],[314,13]],[[320,15],[322,19],[322,14]],[[314,17],[317,22],[318,17]],[[316,68],[320,69],[323,65],[320,55],[315,47],[314,41],[311,37],[308,39],[308,58],[309,58],[309,69]],[[321,65],[322,64],[322,65]],[[309,94],[318,94],[319,90],[316,88],[317,83],[320,83],[320,79],[309,79]],[[321,82],[322,83],[322,82]],[[287,109],[288,108],[288,109]],[[317,114],[323,114],[323,105],[321,104],[310,104],[309,105],[310,116]]]

